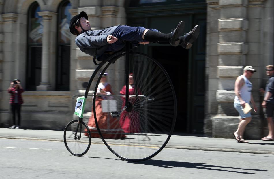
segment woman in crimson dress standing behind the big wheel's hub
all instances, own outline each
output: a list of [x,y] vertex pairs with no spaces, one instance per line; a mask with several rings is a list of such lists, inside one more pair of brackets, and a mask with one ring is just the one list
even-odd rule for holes
[[[125,90],[126,90],[125,86],[123,86],[120,93],[122,95],[125,95]],[[130,73],[130,75],[129,75],[128,94],[129,95],[136,95],[135,85],[134,85],[134,80],[133,80],[133,74],[132,73]],[[123,105],[122,106],[125,106],[125,96],[122,97],[122,100],[123,100]],[[136,98],[134,96],[129,96],[128,101],[132,105],[134,105],[134,103],[136,103]],[[124,130],[125,133],[139,133],[140,132],[139,113],[136,110],[134,110],[134,107],[130,112],[127,112],[126,110],[124,110],[120,114],[120,125],[121,125],[121,127],[122,127],[122,129]]]

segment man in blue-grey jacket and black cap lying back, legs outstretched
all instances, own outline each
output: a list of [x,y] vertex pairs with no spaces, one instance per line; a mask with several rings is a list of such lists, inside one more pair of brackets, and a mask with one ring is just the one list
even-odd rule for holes
[[131,41],[135,46],[157,42],[161,44],[170,43],[173,46],[181,44],[186,49],[191,48],[193,42],[198,38],[200,26],[196,25],[189,33],[183,35],[184,22],[181,21],[177,27],[168,34],[160,33],[156,29],[144,27],[130,27],[118,25],[107,27],[102,30],[91,30],[87,14],[82,11],[70,20],[70,32],[77,35],[76,45],[86,54],[102,60],[105,52],[115,52],[125,46],[125,41]]

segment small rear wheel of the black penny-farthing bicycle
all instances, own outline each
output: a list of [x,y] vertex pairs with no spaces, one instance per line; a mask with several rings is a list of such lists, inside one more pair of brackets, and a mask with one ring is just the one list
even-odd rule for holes
[[82,156],[89,150],[91,134],[83,121],[72,120],[64,131],[64,142],[67,150],[74,156]]

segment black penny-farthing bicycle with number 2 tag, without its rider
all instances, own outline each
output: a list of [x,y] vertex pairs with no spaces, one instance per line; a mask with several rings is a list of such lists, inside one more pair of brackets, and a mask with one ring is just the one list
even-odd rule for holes
[[[144,161],[157,155],[168,143],[175,125],[177,103],[172,82],[162,65],[146,54],[133,52],[130,45],[130,42],[126,42],[126,50],[116,52],[98,65],[89,80],[84,101],[92,82],[94,83],[101,70],[101,75],[95,81],[93,95],[93,115],[97,133],[117,157],[127,161]],[[119,92],[122,87],[120,86],[115,94],[96,94],[106,71],[114,79],[112,84],[116,80],[117,83],[122,82],[125,85],[125,93]],[[134,84],[131,85],[130,74],[133,74],[134,78]],[[111,128],[108,131],[98,123],[97,116],[101,114],[95,110],[96,101],[102,97],[111,97],[114,101],[108,103],[112,108],[108,113],[108,117],[112,119],[108,121]],[[83,105],[82,108],[84,107]],[[110,135],[112,137],[109,137]],[[71,154],[82,156],[89,150],[91,136],[92,133],[83,118],[73,120],[65,127],[65,146]]]

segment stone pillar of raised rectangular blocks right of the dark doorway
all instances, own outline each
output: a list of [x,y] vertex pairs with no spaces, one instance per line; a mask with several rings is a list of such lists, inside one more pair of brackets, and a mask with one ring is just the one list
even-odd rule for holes
[[239,114],[233,107],[234,84],[246,65],[247,5],[247,0],[219,0],[218,111],[212,120],[213,137],[232,137],[231,133],[237,130],[239,123]]

